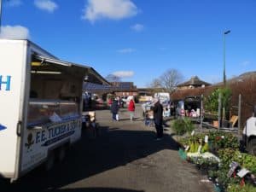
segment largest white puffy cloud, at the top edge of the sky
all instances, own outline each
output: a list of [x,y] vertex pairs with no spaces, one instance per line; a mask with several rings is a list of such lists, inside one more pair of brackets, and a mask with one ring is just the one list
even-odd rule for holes
[[82,19],[94,22],[102,18],[121,20],[137,15],[137,6],[131,0],[88,0]]

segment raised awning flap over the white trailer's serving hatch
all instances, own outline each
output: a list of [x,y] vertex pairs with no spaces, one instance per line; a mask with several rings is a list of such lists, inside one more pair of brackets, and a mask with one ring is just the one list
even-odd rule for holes
[[33,73],[67,73],[75,77],[82,77],[84,81],[95,84],[109,84],[108,81],[96,72],[93,67],[75,64],[73,62],[61,61],[45,57],[43,55],[34,55],[32,60]]

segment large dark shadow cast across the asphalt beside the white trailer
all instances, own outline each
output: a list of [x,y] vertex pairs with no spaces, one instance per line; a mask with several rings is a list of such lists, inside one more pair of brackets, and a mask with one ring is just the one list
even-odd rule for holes
[[177,150],[177,143],[169,135],[155,140],[154,131],[124,131],[117,127],[101,127],[102,134],[94,140],[83,133],[82,139],[68,152],[67,158],[50,172],[39,170],[28,173],[16,183],[1,186],[2,191],[119,191],[129,189],[59,189],[87,177],[154,154],[163,149]]

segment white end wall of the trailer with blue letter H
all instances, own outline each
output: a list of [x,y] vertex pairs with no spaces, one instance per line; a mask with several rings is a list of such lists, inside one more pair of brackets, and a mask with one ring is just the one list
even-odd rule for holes
[[0,40],[0,176],[17,176],[26,41]]

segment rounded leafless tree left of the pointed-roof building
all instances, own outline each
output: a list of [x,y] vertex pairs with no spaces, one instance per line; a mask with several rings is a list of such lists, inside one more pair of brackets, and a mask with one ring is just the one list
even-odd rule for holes
[[172,93],[176,89],[177,84],[183,81],[183,75],[179,73],[177,69],[169,69],[166,73],[163,73],[159,79],[161,87]]

